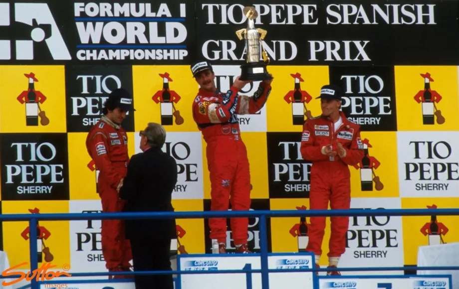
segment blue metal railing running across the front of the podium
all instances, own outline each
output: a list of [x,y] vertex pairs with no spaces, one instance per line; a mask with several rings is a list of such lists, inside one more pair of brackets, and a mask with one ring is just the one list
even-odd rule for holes
[[[143,271],[130,272],[129,275],[150,274],[230,274],[230,273],[261,273],[261,286],[269,289],[268,273],[274,272],[323,272],[331,271],[327,268],[312,269],[268,269],[268,251],[266,218],[278,217],[362,217],[362,216],[451,216],[459,215],[459,209],[350,209],[350,210],[260,210],[260,211],[213,211],[213,212],[148,212],[148,213],[62,213],[62,214],[4,214],[0,221],[29,221],[29,236],[37,235],[38,221],[77,221],[77,220],[108,220],[108,219],[208,219],[208,218],[259,218],[260,232],[260,258],[261,269],[221,270],[221,271]],[[30,246],[30,271],[38,269],[37,242],[29,238]],[[339,268],[339,271],[401,271],[406,268],[376,267],[376,268]],[[449,267],[409,267],[410,270],[459,270],[459,266]],[[72,277],[126,275],[126,272],[97,272],[97,273],[71,273]],[[0,277],[17,278],[19,276]],[[35,279],[31,280],[31,289],[39,289]]]

